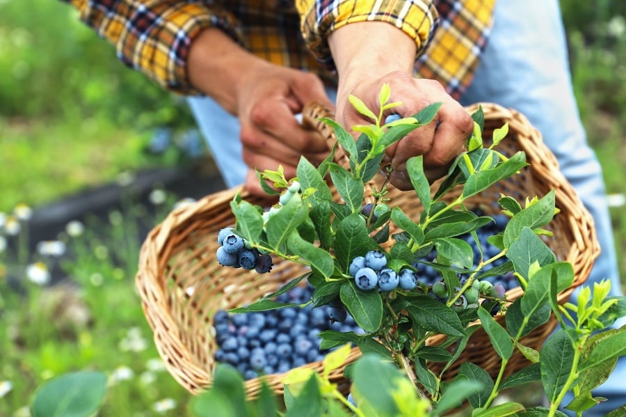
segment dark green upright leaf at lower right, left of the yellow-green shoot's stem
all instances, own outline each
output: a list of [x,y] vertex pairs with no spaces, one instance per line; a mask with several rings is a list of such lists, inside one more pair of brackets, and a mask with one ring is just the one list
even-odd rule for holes
[[541,383],[549,402],[554,403],[570,377],[574,347],[563,329],[548,338],[539,353]]

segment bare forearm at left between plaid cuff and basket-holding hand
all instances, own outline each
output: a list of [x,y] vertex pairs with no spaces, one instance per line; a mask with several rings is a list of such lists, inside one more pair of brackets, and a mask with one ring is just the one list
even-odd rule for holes
[[252,71],[270,65],[239,46],[220,29],[205,29],[191,44],[187,77],[194,88],[236,114],[241,81]]

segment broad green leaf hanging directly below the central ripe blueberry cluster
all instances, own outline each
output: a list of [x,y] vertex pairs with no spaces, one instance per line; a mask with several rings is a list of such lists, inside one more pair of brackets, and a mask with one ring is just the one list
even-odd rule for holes
[[380,328],[383,322],[383,299],[377,291],[363,291],[356,288],[353,281],[347,281],[342,285],[339,296],[361,329],[373,333]]

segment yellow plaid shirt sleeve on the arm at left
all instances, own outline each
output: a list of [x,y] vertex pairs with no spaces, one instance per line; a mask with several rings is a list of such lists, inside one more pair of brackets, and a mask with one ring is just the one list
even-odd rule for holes
[[199,93],[188,82],[186,63],[191,42],[200,31],[218,27],[242,42],[234,15],[205,1],[63,1],[115,45],[123,63],[178,93]]

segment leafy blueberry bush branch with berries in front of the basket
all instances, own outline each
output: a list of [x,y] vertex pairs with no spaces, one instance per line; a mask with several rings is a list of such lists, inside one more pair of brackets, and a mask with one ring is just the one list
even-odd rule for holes
[[[431,123],[440,104],[392,120],[385,115],[400,103],[388,102],[389,98],[389,86],[385,85],[378,96],[378,110],[372,111],[358,97],[350,97],[353,107],[372,122],[353,127],[359,134],[356,140],[334,120],[323,119],[346,154],[345,166],[335,162],[336,148],[319,166],[302,157],[297,178],[285,178],[282,168],[257,173],[266,192],[279,197],[272,207],[252,205],[240,196],[232,200],[236,225],[218,237],[217,255],[222,265],[266,273],[271,271],[268,259],[274,255],[310,267],[307,274],[232,313],[293,306],[275,297],[306,280],[313,288],[312,297],[300,305],[330,306],[330,320],[335,322],[345,320],[347,312],[362,329],[360,333],[323,331],[320,347],[332,349],[349,343],[366,356],[374,354],[396,363],[408,376],[415,401],[427,404],[424,415],[440,415],[464,401],[474,408],[473,416],[511,415],[524,407],[515,403],[493,406],[493,401],[502,390],[531,381],[541,381],[545,387],[550,407],[541,412],[546,415],[559,414],[557,407],[570,389],[577,398],[570,404],[572,409],[591,407],[591,389],[600,379],[589,375],[590,364],[603,365],[610,372],[617,356],[606,347],[618,346],[625,334],[605,331],[601,333],[604,338],[597,338],[591,332],[605,329],[611,324],[609,319],[623,314],[624,303],[621,299],[603,301],[607,284],[595,289],[591,306],[586,306],[586,293],[582,306],[557,302],[556,294],[572,285],[574,273],[570,264],[556,259],[541,237],[549,237],[545,226],[558,212],[555,191],[527,196],[523,206],[511,196],[500,196],[496,202],[499,214],[473,210],[474,196],[527,166],[524,152],[503,155],[497,150],[508,134],[507,125],[495,129],[485,146],[484,117],[479,109],[472,115],[474,132],[467,139],[467,151],[458,155],[433,194],[424,175],[423,158],[408,159],[408,176],[422,205],[419,216],[393,206],[387,198],[393,168],[383,166],[381,172],[380,166],[385,149]],[[374,185],[377,173],[383,173],[378,188]],[[339,199],[332,197],[326,182],[329,177]],[[456,194],[451,194],[453,190]],[[487,251],[479,233],[494,223],[495,216],[506,222],[488,237],[492,249]],[[477,248],[478,258],[470,242]],[[433,252],[435,258],[427,258]],[[434,270],[438,280],[422,279],[426,269]],[[493,276],[514,277],[523,296],[506,299],[506,288],[489,280]],[[505,312],[506,326],[502,326],[493,316]],[[545,324],[552,313],[559,317],[562,330],[549,338],[540,352],[524,346],[524,336]],[[573,323],[573,329],[566,321]],[[444,372],[459,359],[479,328],[485,330],[501,359],[497,376],[492,379],[478,365],[463,363],[458,375],[444,383]],[[437,335],[444,336],[440,345],[428,345]],[[594,353],[598,348],[601,354]],[[515,350],[531,364],[505,378]],[[555,371],[552,361],[568,365]],[[438,363],[440,371],[435,373],[432,365]],[[586,376],[582,382],[581,375]],[[316,381],[325,386],[323,379]],[[357,404],[376,408],[358,395],[371,387],[360,386],[356,379],[354,384]],[[455,384],[467,389],[453,394],[450,386]],[[390,409],[397,414],[398,407]]]

